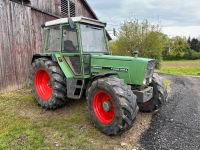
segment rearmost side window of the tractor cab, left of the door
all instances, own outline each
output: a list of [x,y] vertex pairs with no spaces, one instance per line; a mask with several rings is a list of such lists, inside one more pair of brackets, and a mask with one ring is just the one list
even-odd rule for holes
[[49,29],[48,50],[60,51],[60,26],[53,26]]

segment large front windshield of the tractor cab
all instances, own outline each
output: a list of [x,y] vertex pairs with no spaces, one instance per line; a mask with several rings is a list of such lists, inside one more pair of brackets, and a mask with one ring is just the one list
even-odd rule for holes
[[103,28],[81,25],[83,52],[108,52]]

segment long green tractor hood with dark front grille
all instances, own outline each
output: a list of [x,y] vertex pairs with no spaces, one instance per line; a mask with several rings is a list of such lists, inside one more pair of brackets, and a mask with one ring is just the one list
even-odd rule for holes
[[91,73],[116,72],[127,84],[145,85],[153,76],[155,60],[113,55],[92,55]]

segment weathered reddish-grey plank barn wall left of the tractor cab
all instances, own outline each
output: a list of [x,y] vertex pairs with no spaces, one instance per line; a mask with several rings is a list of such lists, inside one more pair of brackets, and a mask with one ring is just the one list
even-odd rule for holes
[[42,51],[41,24],[55,18],[8,0],[0,0],[0,91],[28,81],[33,53]]

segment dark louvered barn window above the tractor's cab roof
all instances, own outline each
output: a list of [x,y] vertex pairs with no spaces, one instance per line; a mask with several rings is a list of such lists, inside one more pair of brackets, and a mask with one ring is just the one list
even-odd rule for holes
[[76,5],[70,0],[61,0],[61,14],[62,17],[75,17]]

